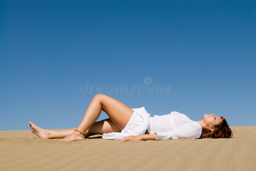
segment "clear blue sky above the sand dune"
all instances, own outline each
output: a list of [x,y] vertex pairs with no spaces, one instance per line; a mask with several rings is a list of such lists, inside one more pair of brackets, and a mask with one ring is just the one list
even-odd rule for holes
[[255,126],[255,16],[255,1],[1,1],[0,130],[77,127],[96,94],[80,92],[86,82],[146,77],[172,94],[109,96],[151,116]]

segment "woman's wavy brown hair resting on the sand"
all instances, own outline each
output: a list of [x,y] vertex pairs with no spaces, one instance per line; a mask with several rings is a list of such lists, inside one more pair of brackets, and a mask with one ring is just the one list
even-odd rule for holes
[[220,116],[221,122],[213,126],[213,131],[211,130],[202,130],[202,138],[231,138],[233,137],[233,132],[228,126],[226,119]]

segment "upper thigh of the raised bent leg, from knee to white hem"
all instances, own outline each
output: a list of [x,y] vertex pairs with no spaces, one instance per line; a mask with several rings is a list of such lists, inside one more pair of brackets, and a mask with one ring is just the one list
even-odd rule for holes
[[111,121],[115,123],[120,130],[123,130],[134,111],[124,103],[107,95],[98,94],[97,98],[100,99],[102,110],[106,112]]

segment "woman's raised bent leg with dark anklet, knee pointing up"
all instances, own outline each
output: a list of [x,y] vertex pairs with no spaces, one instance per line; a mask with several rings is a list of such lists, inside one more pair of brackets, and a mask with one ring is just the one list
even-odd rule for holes
[[[120,130],[125,127],[134,112],[131,108],[116,99],[103,94],[97,94],[92,99],[92,102],[84,114],[84,118],[76,130],[84,133],[99,118],[101,110],[107,113],[109,118],[116,124],[116,126],[119,127]],[[80,132],[74,131],[59,141],[83,140],[84,135]]]

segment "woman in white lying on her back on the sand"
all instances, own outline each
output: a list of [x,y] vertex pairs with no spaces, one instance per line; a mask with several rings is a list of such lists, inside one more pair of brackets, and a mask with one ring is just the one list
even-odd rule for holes
[[[96,122],[101,111],[108,119]],[[40,138],[62,138],[59,141],[76,141],[102,134],[105,139],[122,142],[135,140],[161,140],[176,138],[231,138],[233,132],[224,117],[204,114],[203,120],[192,121],[179,112],[149,117],[145,108],[131,109],[104,94],[96,94],[77,128],[44,130],[29,121],[30,128]]]

